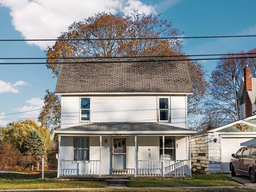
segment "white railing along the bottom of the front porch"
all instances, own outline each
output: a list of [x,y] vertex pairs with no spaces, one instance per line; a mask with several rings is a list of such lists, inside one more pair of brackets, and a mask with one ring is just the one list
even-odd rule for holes
[[[127,177],[182,177],[190,176],[190,161],[175,160],[138,160],[138,169],[131,174],[127,170],[117,170],[112,174],[101,174],[100,161],[60,161],[59,177],[104,177],[104,178],[127,178]],[[164,171],[163,171],[164,170]]]

